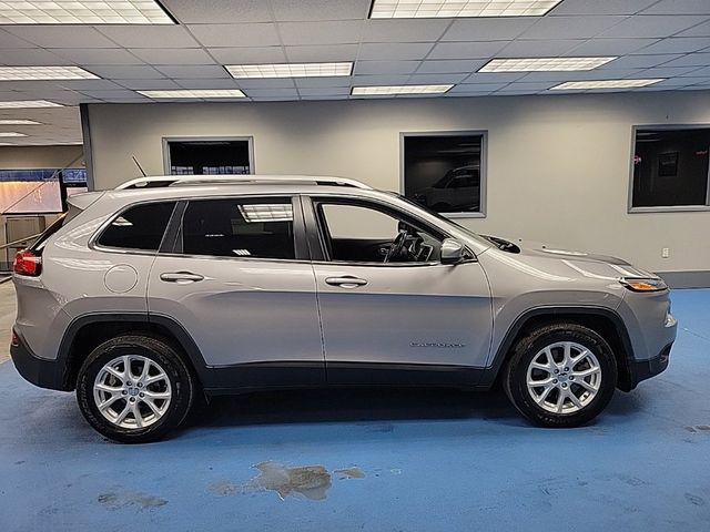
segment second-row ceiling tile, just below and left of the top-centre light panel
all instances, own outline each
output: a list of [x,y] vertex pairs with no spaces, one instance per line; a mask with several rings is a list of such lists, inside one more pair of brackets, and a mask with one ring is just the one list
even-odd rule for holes
[[362,20],[281,22],[278,33],[285,45],[351,44],[361,41]]

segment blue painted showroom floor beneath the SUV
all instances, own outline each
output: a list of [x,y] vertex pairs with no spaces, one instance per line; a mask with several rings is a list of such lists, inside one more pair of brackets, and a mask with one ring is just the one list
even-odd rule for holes
[[[129,447],[0,365],[0,530],[708,531],[710,290],[672,298],[670,369],[575,430],[529,427],[500,392],[318,391],[222,399]],[[325,499],[264,490],[267,461],[322,466]]]

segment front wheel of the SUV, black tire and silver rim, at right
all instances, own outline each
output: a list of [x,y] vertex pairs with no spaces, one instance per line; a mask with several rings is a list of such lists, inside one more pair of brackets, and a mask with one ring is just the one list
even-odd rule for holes
[[[585,350],[588,355],[582,357]],[[567,365],[566,352],[571,357]],[[518,340],[504,368],[503,385],[515,408],[532,423],[571,428],[588,423],[606,408],[617,377],[611,347],[599,334],[578,324],[551,324]]]

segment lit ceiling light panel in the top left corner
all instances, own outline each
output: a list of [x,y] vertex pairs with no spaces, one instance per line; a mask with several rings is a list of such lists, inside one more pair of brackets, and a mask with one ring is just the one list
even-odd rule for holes
[[0,24],[174,24],[154,0],[4,0]]

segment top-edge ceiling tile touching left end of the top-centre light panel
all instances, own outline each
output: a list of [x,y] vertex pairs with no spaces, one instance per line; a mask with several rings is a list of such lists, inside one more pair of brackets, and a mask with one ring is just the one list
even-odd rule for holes
[[278,21],[366,19],[372,0],[274,0]]

